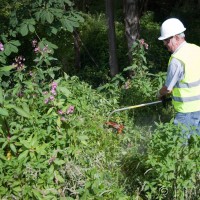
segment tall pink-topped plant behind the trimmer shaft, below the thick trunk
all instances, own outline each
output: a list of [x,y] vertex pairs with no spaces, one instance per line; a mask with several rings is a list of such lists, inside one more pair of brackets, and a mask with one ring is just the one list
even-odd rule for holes
[[146,60],[149,48],[144,39],[136,40],[132,46],[132,63],[124,69],[129,77],[123,80],[121,92],[122,101],[128,105],[140,104],[141,100],[155,101],[156,93],[163,85],[165,73],[150,73],[152,66]]

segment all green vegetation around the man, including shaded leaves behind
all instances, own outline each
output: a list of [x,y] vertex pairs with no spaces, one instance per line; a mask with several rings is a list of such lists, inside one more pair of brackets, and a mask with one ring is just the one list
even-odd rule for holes
[[[121,73],[111,79],[105,16],[75,12],[68,0],[41,2],[1,8],[0,199],[197,199],[200,138],[187,140],[173,125],[171,105],[109,115],[157,100],[168,55],[154,13],[141,19],[144,40],[134,43],[130,64],[116,23]],[[77,28],[86,47],[81,69],[73,60]]]

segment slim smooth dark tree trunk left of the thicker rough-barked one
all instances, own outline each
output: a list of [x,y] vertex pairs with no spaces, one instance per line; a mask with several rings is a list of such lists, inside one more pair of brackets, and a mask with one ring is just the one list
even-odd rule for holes
[[119,72],[116,54],[116,35],[114,23],[114,0],[106,0],[106,16],[109,40],[109,65],[110,74],[115,76]]

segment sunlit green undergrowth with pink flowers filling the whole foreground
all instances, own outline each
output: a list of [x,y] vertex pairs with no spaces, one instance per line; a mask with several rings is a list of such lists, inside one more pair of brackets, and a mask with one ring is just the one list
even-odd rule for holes
[[134,44],[132,64],[96,90],[50,66],[54,45],[38,47],[36,65],[18,57],[0,70],[1,199],[199,196],[199,136],[186,140],[180,127],[162,122],[171,107],[110,115],[156,100],[164,74],[149,72],[144,40]]

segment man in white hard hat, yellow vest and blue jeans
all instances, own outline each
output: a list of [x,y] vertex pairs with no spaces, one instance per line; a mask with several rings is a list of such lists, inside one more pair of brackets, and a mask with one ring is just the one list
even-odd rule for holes
[[176,113],[174,124],[195,127],[200,134],[200,47],[185,41],[186,28],[176,18],[170,18],[161,26],[164,45],[170,51],[165,85],[158,97],[172,94]]

